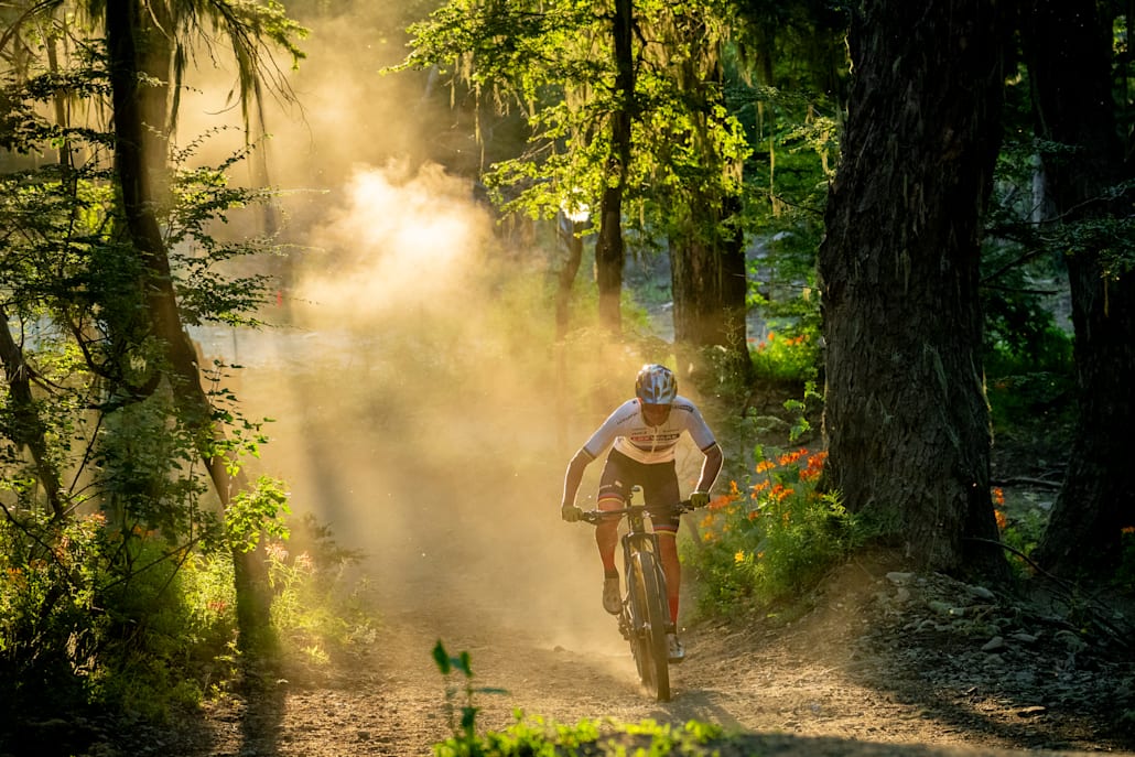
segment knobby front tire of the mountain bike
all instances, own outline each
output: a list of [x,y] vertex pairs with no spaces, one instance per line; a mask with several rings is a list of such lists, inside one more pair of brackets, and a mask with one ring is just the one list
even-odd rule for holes
[[631,634],[631,653],[638,666],[639,680],[658,701],[670,701],[670,651],[666,646],[666,623],[670,611],[665,584],[658,578],[659,566],[654,554],[639,552],[631,565],[632,595],[637,615]]

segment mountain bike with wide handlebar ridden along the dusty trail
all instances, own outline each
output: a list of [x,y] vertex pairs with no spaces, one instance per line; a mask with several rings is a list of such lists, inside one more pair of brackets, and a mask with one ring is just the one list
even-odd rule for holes
[[[636,487],[638,490],[638,487]],[[639,680],[658,701],[670,701],[670,650],[666,634],[674,632],[666,598],[666,575],[658,553],[658,535],[648,530],[647,519],[670,518],[692,510],[688,499],[674,505],[641,505],[627,502],[619,510],[588,510],[582,520],[598,523],[627,519],[623,546],[623,579],[627,591],[617,615],[619,631],[630,641]]]

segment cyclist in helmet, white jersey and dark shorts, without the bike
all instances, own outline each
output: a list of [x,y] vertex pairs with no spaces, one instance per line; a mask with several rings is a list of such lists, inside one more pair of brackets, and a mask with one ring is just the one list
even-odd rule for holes
[[[575,494],[583,480],[583,469],[612,445],[599,479],[599,510],[624,507],[633,486],[642,487],[644,499],[649,504],[678,503],[681,496],[674,449],[683,432],[690,435],[705,455],[690,503],[695,507],[704,507],[709,503],[709,487],[721,472],[724,455],[697,406],[678,394],[678,380],[673,371],[656,363],[644,365],[634,381],[634,398],[628,399],[607,417],[568,464],[560,514],[569,523],[574,523],[582,516],[582,511],[575,506]],[[670,659],[681,662],[686,657],[686,649],[676,633],[678,596],[682,577],[676,541],[680,515],[658,518],[653,522],[658,535],[673,626],[667,634]],[[603,562],[603,607],[617,615],[622,608],[619,570],[615,567],[617,519],[599,522],[595,527],[595,541]]]

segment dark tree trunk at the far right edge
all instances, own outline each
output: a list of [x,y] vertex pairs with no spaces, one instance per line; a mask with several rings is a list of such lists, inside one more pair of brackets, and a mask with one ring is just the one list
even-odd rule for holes
[[[1041,153],[1056,222],[1115,215],[1119,209],[1103,193],[1129,170],[1115,131],[1111,19],[1094,0],[1037,0],[1025,39],[1037,136],[1074,150]],[[1128,200],[1119,212],[1129,209]],[[1101,254],[1110,243],[1088,239],[1067,258],[1079,419],[1035,557],[1068,577],[1115,569],[1120,530],[1135,525],[1135,274],[1104,269]]]

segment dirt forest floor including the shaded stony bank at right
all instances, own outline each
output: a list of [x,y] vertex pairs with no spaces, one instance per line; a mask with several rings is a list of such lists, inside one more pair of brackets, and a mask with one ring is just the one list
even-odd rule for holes
[[[1007,491],[1012,502],[1045,496]],[[465,682],[431,661],[438,640],[468,651],[472,685],[491,689],[473,695],[481,732],[522,712],[529,723],[590,720],[604,733],[644,720],[716,723],[735,734],[713,745],[722,757],[1135,754],[1135,615],[1059,582],[991,591],[911,572],[893,552],[864,553],[776,615],[689,622],[673,699],[658,703],[637,684],[597,581],[577,574],[579,597],[535,599],[528,573],[546,545],[496,561],[472,530],[446,528],[445,560],[376,587],[387,611],[373,644],[293,665],[177,729],[131,734],[128,751],[107,743],[99,754],[430,755],[454,733],[453,707],[466,704]],[[405,546],[427,557],[436,540]],[[449,582],[454,573],[463,580]],[[474,592],[474,582],[493,590]]]

